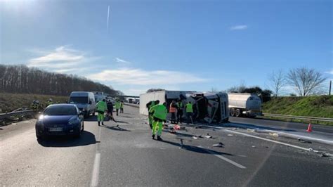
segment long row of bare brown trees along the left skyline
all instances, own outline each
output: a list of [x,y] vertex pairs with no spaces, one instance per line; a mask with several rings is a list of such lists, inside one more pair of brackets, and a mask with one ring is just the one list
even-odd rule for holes
[[112,87],[77,75],[46,72],[26,65],[0,65],[0,91],[68,96],[72,91],[103,91],[112,95]]

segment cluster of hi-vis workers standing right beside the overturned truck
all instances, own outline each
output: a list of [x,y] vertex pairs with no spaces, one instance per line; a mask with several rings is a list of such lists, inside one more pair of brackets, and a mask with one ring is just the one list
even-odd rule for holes
[[[150,101],[146,104],[148,108],[148,122],[150,129],[152,129],[152,138],[155,139],[156,131],[157,131],[157,140],[162,141],[162,128],[163,123],[166,122],[166,115],[168,114],[168,110],[166,109],[166,103],[159,104],[159,100]],[[187,116],[187,124],[192,122],[192,114],[193,114],[193,105],[190,101],[183,105],[183,101],[179,99],[177,102],[174,100],[169,105],[169,112],[171,113],[171,124],[178,124],[178,122],[183,122],[183,110],[185,109]],[[193,122],[192,122],[193,123]]]

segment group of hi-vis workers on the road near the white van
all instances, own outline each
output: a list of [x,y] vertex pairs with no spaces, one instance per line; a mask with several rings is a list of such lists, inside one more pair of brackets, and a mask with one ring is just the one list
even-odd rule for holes
[[[124,101],[119,101],[119,99],[115,102],[115,108],[118,115],[118,112],[120,110],[120,113],[124,113]],[[106,101],[105,98],[101,101],[98,101],[96,103],[96,111],[98,113],[97,115],[97,123],[98,126],[100,124],[104,125],[105,120],[105,112],[107,117],[110,117],[111,120],[115,121],[115,118],[113,117],[113,104],[111,100]],[[115,121],[116,122],[116,121]]]

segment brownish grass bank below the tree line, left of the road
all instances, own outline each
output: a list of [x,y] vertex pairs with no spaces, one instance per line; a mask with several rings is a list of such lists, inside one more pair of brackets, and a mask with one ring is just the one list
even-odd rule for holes
[[67,96],[50,96],[29,93],[4,93],[0,92],[0,113],[11,112],[18,108],[30,108],[32,101],[38,100],[45,105],[49,98],[53,99],[53,103],[65,103]]

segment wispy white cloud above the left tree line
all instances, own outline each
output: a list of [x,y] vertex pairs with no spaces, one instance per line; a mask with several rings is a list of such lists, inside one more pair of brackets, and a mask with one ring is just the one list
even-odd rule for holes
[[69,46],[59,46],[53,51],[41,51],[34,49],[39,55],[28,60],[27,66],[40,67],[55,72],[74,72],[81,70],[83,63],[88,63],[100,57],[87,56],[84,52],[71,49]]

